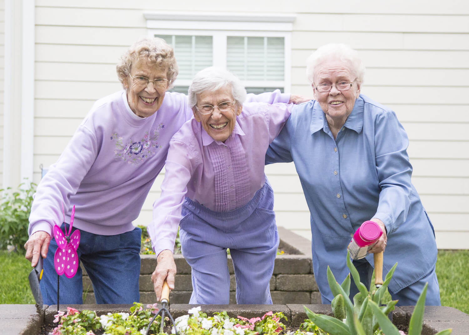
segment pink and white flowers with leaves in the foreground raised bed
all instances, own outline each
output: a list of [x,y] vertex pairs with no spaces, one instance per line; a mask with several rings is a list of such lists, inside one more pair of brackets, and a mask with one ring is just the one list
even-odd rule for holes
[[[130,308],[110,309],[110,305],[94,305],[97,311],[88,310],[83,306],[82,312],[68,307],[67,312],[57,313],[50,306],[45,311],[45,324],[41,335],[53,332],[54,335],[83,334],[83,335],[141,335],[146,330],[150,318],[158,311],[159,305],[134,304]],[[129,306],[129,305],[127,305]],[[228,306],[228,305],[225,305]],[[221,305],[172,305],[171,313],[176,318],[176,327],[181,335],[326,335],[324,331],[310,320],[307,320],[302,305],[239,305],[231,306],[228,311],[219,312]],[[318,309],[318,307],[320,308]],[[99,308],[101,307],[101,308]],[[102,308],[106,307],[106,308]],[[117,307],[117,306],[116,306]],[[233,307],[241,307],[235,310]],[[272,310],[263,312],[263,308],[272,307]],[[292,308],[293,307],[293,308]],[[184,308],[184,309],[182,309]],[[330,305],[308,305],[316,313],[331,315]],[[445,308],[445,307],[439,307]],[[446,307],[450,308],[450,307]],[[303,311],[302,311],[303,310]],[[106,312],[107,311],[107,312]],[[458,312],[457,310],[451,313]],[[461,312],[459,312],[461,313]],[[240,315],[241,314],[241,315]],[[465,316],[468,316],[464,314]],[[394,311],[394,323],[400,329],[406,329],[409,319],[408,313],[399,308]],[[306,320],[305,320],[306,319]],[[426,319],[426,318],[424,318]],[[58,324],[57,321],[60,321]],[[441,321],[440,321],[441,322]],[[423,335],[435,334],[442,325],[429,325],[424,323]],[[160,317],[151,325],[149,334],[159,333]],[[445,322],[446,325],[446,322]],[[166,334],[171,334],[171,323],[166,319]],[[437,327],[435,327],[437,326]],[[440,327],[438,327],[440,326]],[[55,332],[54,329],[55,328]],[[435,329],[436,328],[436,329]],[[74,329],[75,333],[70,330]],[[23,333],[32,335],[37,333]],[[159,333],[161,334],[161,333]],[[173,333],[174,334],[174,333]],[[381,331],[375,333],[381,335]],[[467,334],[454,329],[454,335]]]

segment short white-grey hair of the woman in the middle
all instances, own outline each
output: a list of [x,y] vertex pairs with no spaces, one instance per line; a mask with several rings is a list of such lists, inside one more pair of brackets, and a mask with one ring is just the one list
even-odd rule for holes
[[242,105],[246,100],[246,89],[241,80],[228,70],[220,67],[206,67],[200,70],[189,86],[189,106],[197,105],[197,97],[205,91],[216,91],[223,87],[231,88],[231,95],[236,103]]

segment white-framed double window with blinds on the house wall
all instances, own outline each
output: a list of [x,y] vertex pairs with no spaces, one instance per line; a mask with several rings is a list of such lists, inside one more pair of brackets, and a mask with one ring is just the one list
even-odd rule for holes
[[218,66],[236,74],[248,93],[289,92],[293,16],[152,12],[145,18],[149,35],[174,48],[179,65],[174,91],[187,93],[194,74]]

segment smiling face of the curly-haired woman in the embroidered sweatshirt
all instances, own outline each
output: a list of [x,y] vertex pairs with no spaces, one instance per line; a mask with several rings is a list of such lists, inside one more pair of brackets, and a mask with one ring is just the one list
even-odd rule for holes
[[[166,79],[166,73],[166,68],[157,67],[145,58],[139,59],[130,71],[132,77],[143,76],[150,80],[157,78]],[[165,83],[163,86],[159,86],[155,85],[155,82],[142,85],[134,82],[130,76],[127,76],[124,80],[124,88],[127,92],[127,101],[132,112],[141,118],[148,118],[153,115],[163,104],[168,85]]]

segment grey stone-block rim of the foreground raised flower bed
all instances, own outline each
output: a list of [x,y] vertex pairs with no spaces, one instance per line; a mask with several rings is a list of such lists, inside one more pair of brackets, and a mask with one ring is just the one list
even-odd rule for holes
[[[57,314],[57,306],[44,306],[43,310],[36,310],[34,305],[0,305],[0,329],[1,334],[8,335],[38,335],[40,328],[46,324],[53,324],[54,315]],[[107,313],[129,313],[132,305],[73,305],[77,310],[96,311],[97,315]],[[158,306],[160,307],[160,306]],[[169,307],[174,318],[188,313],[188,310],[197,307],[195,305],[172,304]],[[226,311],[227,315],[235,318],[241,315],[245,318],[262,317],[266,312],[283,313],[288,321],[282,320],[287,330],[300,327],[307,318],[303,305],[202,305],[201,312],[213,315],[220,311]],[[332,315],[331,305],[306,305],[311,311],[326,315]],[[63,308],[66,310],[66,308]],[[393,323],[401,330],[405,330],[413,306],[396,307],[393,312]],[[467,335],[469,329],[469,315],[458,311],[453,307],[427,306],[424,313],[422,335],[433,335],[437,331],[453,328],[452,335]],[[52,329],[52,328],[51,328]]]

